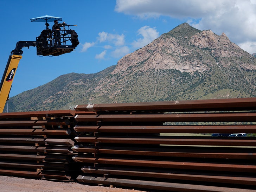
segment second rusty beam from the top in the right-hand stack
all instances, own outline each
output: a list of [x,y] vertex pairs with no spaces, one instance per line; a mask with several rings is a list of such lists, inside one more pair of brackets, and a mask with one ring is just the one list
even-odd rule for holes
[[76,115],[78,122],[253,122],[256,113]]

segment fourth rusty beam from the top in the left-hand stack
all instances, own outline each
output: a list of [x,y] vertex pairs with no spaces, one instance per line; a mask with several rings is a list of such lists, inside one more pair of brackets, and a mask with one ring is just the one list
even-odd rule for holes
[[14,138],[14,137],[4,137],[0,138],[0,143],[39,143],[44,145],[65,145],[65,146],[73,146],[74,141],[71,139],[41,139],[41,138]]

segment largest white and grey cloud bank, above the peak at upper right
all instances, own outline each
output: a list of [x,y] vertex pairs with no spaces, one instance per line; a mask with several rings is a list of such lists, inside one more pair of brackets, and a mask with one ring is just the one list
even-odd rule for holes
[[256,52],[252,49],[256,44],[255,0],[117,0],[115,11],[144,19],[161,15],[186,19],[199,30],[224,32],[249,53]]

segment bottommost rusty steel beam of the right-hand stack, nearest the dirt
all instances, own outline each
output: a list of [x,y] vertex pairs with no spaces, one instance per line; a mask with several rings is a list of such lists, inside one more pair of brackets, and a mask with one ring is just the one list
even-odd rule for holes
[[132,180],[132,179],[117,179],[117,178],[100,178],[89,177],[79,175],[77,177],[79,182],[103,184],[103,185],[115,185],[123,187],[136,187],[136,188],[148,188],[153,190],[164,191],[180,191],[180,192],[255,192],[254,190],[242,189],[242,188],[229,188],[220,186],[206,186],[206,185],[192,185],[192,184],[180,184],[180,183],[166,183],[157,181],[145,181],[145,180]]

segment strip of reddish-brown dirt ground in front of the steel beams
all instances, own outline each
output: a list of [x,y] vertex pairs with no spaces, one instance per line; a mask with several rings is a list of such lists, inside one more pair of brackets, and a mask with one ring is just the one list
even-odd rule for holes
[[145,192],[123,188],[90,186],[0,175],[0,192]]

